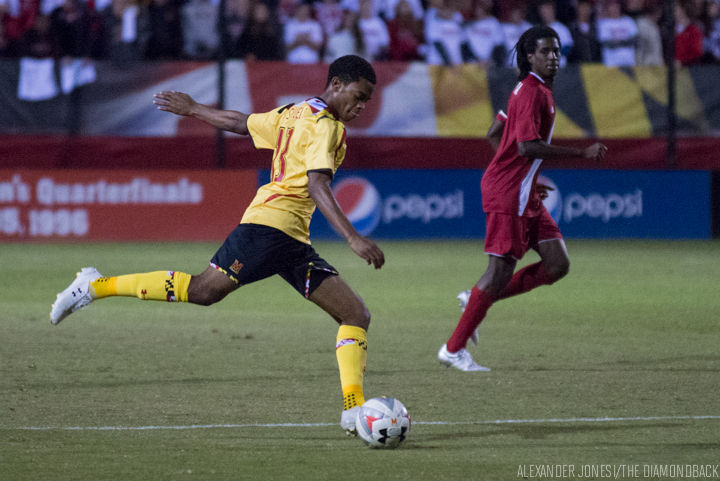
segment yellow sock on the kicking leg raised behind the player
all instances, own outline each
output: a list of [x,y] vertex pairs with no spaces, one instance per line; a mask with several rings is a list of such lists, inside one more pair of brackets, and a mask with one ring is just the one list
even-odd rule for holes
[[154,301],[187,302],[190,274],[155,271],[117,277],[101,277],[90,283],[95,299],[108,296],[138,297]]

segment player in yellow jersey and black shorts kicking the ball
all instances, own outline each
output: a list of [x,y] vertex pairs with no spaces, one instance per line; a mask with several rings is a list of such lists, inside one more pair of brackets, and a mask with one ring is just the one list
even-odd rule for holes
[[340,425],[352,433],[356,412],[364,402],[370,313],[360,296],[310,245],[309,226],[317,206],[355,254],[376,269],[385,263],[382,250],[358,234],[330,189],[345,157],[343,122],[360,115],[375,82],[372,66],[348,55],[330,65],[319,97],[266,113],[219,110],[181,92],[156,94],[154,103],[160,110],[250,135],[255,147],[273,149],[270,183],[258,189],[240,224],[201,274],[157,271],[104,277],[94,267],[83,268],[58,294],[50,312],[52,324],[108,296],[207,306],[244,284],[278,274],[340,324],[335,349],[344,403]]

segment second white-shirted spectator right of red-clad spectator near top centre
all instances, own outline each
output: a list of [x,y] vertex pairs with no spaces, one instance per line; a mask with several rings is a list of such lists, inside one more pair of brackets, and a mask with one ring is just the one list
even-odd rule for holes
[[465,35],[473,55],[482,67],[492,64],[498,58],[502,63],[507,54],[505,34],[500,21],[492,14],[492,1],[477,1],[474,18],[465,25]]

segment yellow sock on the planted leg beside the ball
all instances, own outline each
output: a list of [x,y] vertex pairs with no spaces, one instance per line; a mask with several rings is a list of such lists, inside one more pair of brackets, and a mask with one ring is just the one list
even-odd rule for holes
[[340,370],[340,385],[343,390],[343,409],[361,406],[363,376],[367,361],[367,332],[362,327],[342,325],[338,329],[335,355]]

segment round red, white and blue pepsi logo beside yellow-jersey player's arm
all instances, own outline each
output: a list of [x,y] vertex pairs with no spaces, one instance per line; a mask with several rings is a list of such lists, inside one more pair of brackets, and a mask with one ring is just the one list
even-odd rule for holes
[[382,205],[374,185],[362,177],[349,177],[338,182],[333,187],[333,193],[360,235],[368,235],[375,230],[382,215]]

